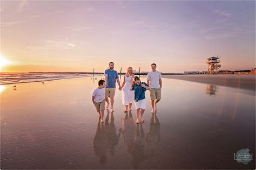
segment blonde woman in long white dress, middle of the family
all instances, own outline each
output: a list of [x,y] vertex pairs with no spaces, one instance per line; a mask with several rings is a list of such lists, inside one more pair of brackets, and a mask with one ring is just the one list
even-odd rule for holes
[[124,75],[124,82],[121,86],[122,89],[122,100],[123,104],[125,105],[124,112],[128,111],[128,105],[129,109],[132,110],[132,102],[134,100],[134,91],[131,91],[132,86],[132,80],[134,78],[134,74],[132,73],[132,67],[127,68],[127,72]]

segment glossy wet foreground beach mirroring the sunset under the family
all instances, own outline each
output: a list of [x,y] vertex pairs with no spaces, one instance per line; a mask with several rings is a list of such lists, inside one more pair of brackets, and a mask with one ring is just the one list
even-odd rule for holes
[[[1,85],[1,168],[254,168],[234,160],[255,151],[254,91],[163,79],[162,100],[145,123],[113,114],[98,124],[91,77]],[[143,77],[145,81],[145,77]]]

